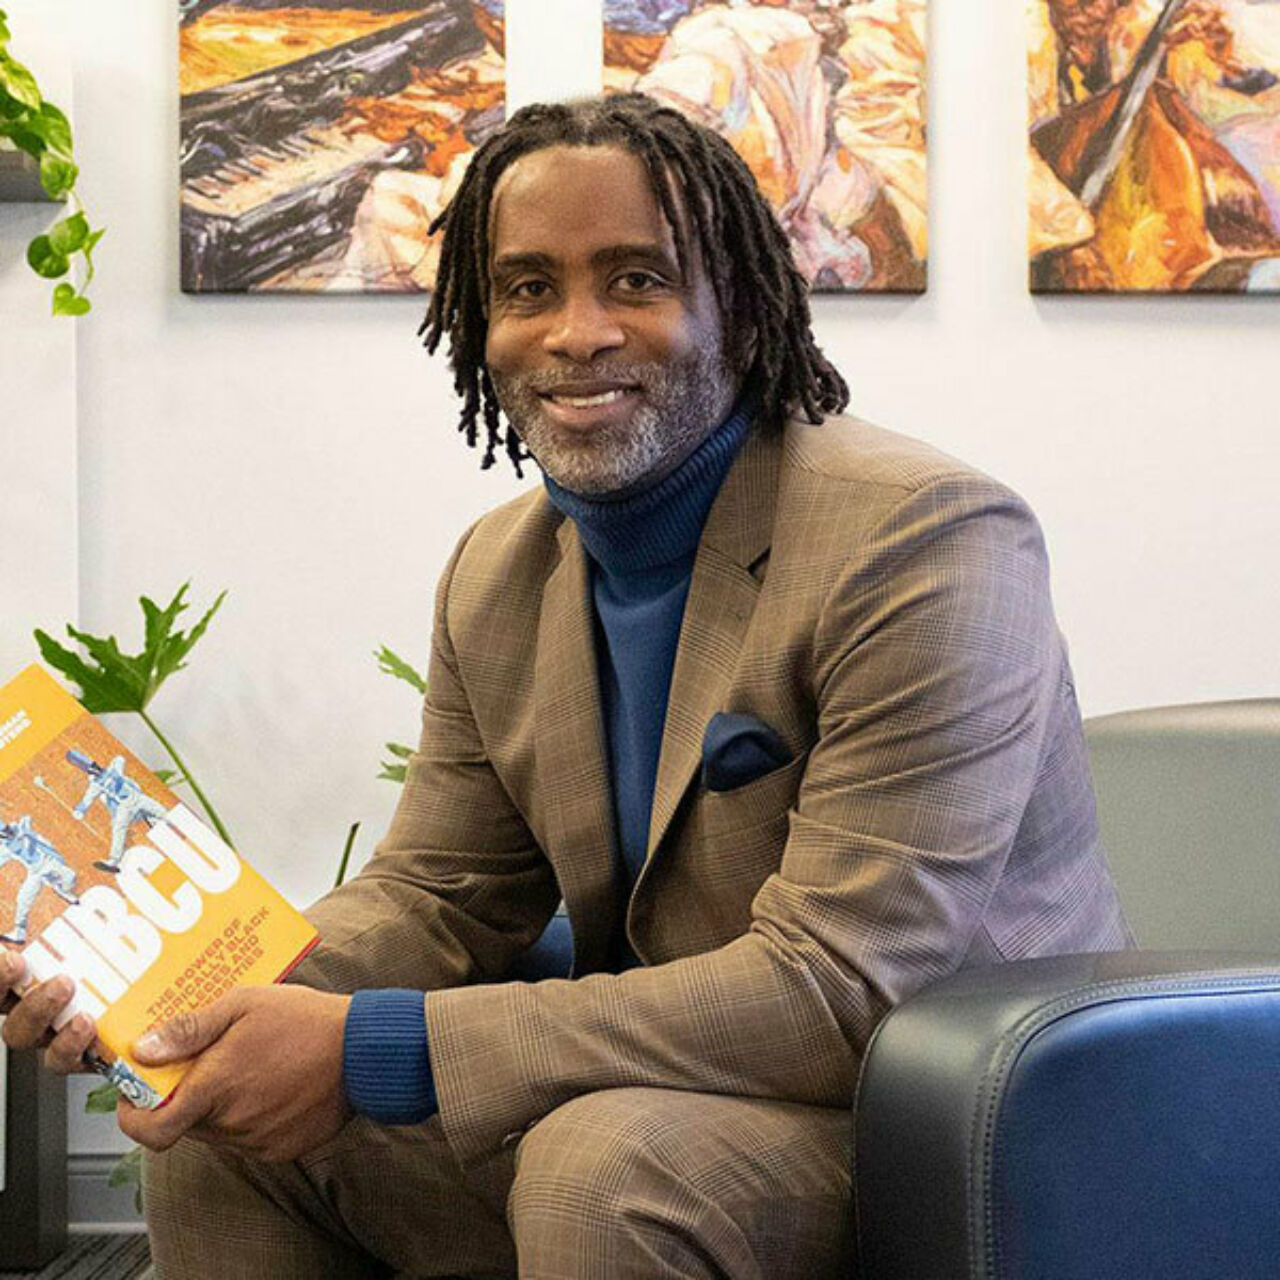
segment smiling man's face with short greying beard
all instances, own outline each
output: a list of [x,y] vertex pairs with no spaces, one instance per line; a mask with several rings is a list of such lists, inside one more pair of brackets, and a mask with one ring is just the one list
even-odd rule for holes
[[620,147],[515,161],[490,209],[485,362],[541,468],[623,495],[673,471],[733,404],[716,294],[681,275],[644,163]]

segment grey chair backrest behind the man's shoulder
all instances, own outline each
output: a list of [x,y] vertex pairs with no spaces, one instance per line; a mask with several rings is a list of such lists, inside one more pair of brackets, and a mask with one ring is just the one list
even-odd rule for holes
[[1280,948],[1280,698],[1087,721],[1098,823],[1147,948]]

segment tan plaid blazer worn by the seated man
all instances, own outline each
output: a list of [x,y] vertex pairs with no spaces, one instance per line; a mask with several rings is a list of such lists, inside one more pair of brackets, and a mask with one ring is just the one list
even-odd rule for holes
[[[771,724],[792,763],[704,790],[718,710]],[[595,1089],[846,1106],[873,1027],[925,983],[1130,941],[1034,517],[864,422],[753,435],[717,497],[628,904],[605,759],[585,556],[535,490],[445,570],[403,797],[312,909],[302,972],[436,992],[463,1162]],[[497,982],[562,895],[581,977]],[[644,966],[593,973],[621,906]]]

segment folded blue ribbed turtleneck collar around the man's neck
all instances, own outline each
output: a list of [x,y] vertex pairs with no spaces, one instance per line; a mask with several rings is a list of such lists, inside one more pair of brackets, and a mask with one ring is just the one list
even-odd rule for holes
[[543,476],[552,504],[577,526],[605,573],[637,573],[692,557],[721,483],[755,420],[750,397],[671,475],[630,498],[588,497]]

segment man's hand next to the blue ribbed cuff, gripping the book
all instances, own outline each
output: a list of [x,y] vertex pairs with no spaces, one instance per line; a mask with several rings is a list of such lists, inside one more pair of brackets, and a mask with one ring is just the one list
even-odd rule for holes
[[260,1161],[297,1160],[351,1119],[342,1085],[348,996],[247,987],[133,1046],[143,1066],[193,1059],[156,1111],[120,1102],[120,1129],[152,1151],[184,1134]]

